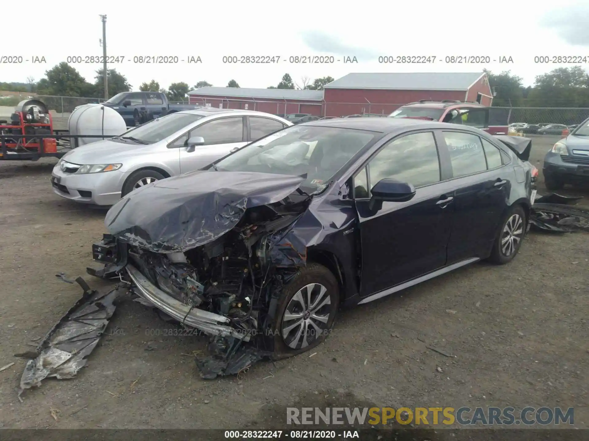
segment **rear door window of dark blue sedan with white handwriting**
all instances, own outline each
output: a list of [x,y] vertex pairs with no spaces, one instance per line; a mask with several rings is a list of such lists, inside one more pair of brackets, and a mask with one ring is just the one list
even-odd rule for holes
[[442,132],[452,162],[454,178],[487,170],[481,138],[471,133]]

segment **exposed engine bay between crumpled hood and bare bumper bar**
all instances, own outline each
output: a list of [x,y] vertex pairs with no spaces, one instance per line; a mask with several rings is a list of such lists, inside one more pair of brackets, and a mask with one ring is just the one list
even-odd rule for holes
[[[213,242],[184,253],[131,247],[128,258],[154,285],[180,302],[228,316],[243,330],[256,330],[278,270],[270,256],[277,252],[280,234],[273,235],[292,224],[304,209],[304,205],[282,203],[256,207]],[[299,258],[302,262],[303,256]]]

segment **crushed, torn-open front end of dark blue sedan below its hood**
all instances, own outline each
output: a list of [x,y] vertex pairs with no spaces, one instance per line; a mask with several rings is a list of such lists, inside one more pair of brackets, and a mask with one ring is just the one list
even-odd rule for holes
[[201,376],[234,375],[272,355],[282,286],[306,262],[306,246],[292,229],[309,201],[291,195],[244,208],[233,228],[185,250],[106,234],[92,245],[104,267],[88,273],[125,280],[144,305],[209,335],[210,355],[197,359]]

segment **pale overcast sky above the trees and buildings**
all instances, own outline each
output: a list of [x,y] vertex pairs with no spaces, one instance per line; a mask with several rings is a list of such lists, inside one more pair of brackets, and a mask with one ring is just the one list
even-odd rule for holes
[[[22,56],[22,64],[0,64],[0,81],[42,78],[68,56],[101,56],[99,39],[107,14],[110,64],[127,76],[135,90],[155,79],[162,87],[206,80],[226,86],[276,85],[288,72],[296,83],[349,72],[493,72],[511,70],[534,83],[535,75],[561,67],[537,64],[535,56],[587,56],[589,68],[589,2],[519,0],[473,2],[325,2],[309,4],[249,0],[237,2],[134,2],[53,0],[51,7],[31,8],[26,18],[2,19],[0,58]],[[19,44],[8,45],[9,42]],[[12,46],[13,49],[9,49]],[[17,48],[18,46],[18,48]],[[276,64],[226,64],[223,56],[275,56]],[[333,56],[333,64],[290,63],[294,56]],[[379,56],[435,56],[433,64],[382,64]],[[446,56],[489,56],[491,64],[449,64]],[[46,64],[32,63],[37,56]],[[135,57],[178,57],[176,64],[141,64]],[[200,56],[202,63],[189,64]],[[356,57],[358,64],[344,64]],[[124,57],[124,61],[123,61]],[[499,64],[501,57],[512,64]],[[339,62],[337,60],[340,60]],[[28,60],[28,61],[27,61]],[[184,61],[183,61],[184,60]],[[496,62],[493,62],[497,60]],[[100,64],[75,64],[94,82]]]

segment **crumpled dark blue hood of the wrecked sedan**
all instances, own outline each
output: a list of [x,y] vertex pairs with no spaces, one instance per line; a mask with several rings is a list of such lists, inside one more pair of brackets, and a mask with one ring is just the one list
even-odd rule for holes
[[197,171],[146,185],[115,203],[108,232],[153,252],[184,252],[237,225],[247,208],[279,202],[305,180],[256,172]]

